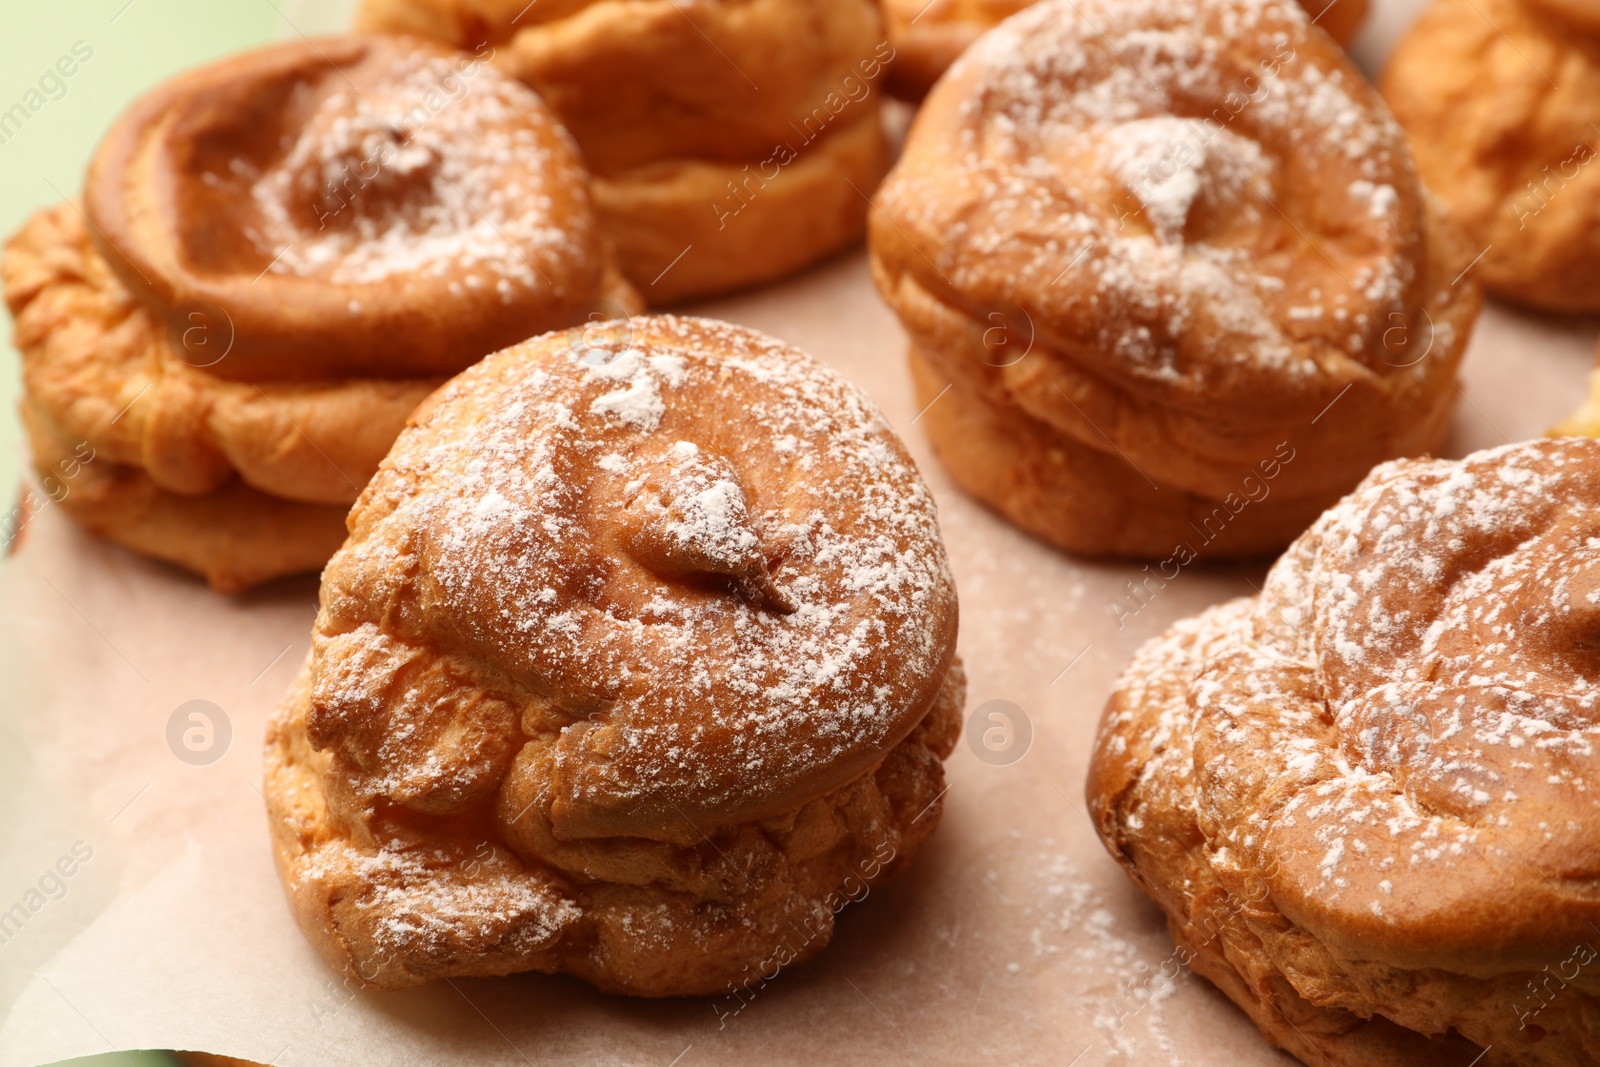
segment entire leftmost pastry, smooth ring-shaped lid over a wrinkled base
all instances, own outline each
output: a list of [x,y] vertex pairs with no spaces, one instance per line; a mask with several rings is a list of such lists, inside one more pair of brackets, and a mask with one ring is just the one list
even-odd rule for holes
[[61,506],[219,590],[320,568],[443,378],[637,304],[538,96],[400,37],[158,86],[3,270],[35,466],[94,456]]

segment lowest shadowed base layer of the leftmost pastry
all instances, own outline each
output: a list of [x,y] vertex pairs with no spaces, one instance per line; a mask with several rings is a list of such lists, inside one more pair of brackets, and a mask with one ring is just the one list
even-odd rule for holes
[[[35,405],[22,405],[22,424],[35,470],[58,477],[74,445]],[[344,542],[347,510],[285,501],[238,482],[184,496],[104,458],[83,461],[58,504],[91,534],[194,571],[219,593],[320,571]]]

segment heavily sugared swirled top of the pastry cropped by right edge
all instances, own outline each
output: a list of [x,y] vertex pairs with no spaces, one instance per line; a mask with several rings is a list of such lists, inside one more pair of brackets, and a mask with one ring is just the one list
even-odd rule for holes
[[1186,712],[1219,870],[1352,958],[1592,936],[1600,442],[1386,464],[1226,629]]

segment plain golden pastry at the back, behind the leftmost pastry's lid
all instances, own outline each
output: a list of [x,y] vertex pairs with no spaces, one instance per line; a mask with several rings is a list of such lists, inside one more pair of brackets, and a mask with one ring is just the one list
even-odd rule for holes
[[654,306],[859,240],[888,170],[872,0],[362,0],[357,26],[475,50],[539,90]]

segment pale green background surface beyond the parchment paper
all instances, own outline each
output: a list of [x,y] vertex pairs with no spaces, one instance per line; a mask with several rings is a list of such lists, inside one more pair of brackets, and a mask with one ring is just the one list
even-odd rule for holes
[[[21,102],[75,42],[94,50],[10,141],[0,144],[0,234],[11,234],[56,189],[77,195],[101,134],[146,86],[163,77],[280,35],[326,32],[346,3],[301,0],[0,0],[0,110]],[[58,90],[59,91],[59,90]],[[54,187],[51,187],[54,186]],[[0,499],[16,498],[26,453],[16,421],[21,379],[6,318],[0,352]],[[75,1067],[170,1067],[160,1053],[70,1061]]]

